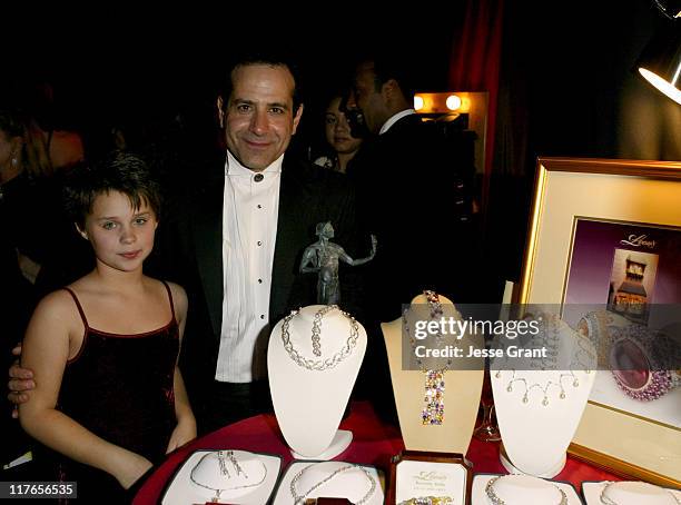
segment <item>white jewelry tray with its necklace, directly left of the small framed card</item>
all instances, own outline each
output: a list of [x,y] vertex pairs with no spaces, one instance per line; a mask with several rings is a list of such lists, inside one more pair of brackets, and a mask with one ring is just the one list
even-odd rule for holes
[[318,497],[383,505],[384,478],[373,466],[347,462],[294,462],[282,477],[274,505],[299,505]]

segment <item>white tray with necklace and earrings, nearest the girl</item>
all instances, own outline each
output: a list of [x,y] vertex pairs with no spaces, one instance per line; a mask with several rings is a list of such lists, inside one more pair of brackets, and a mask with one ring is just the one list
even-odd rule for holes
[[191,503],[269,503],[279,477],[282,458],[247,450],[194,452],[177,469],[161,505]]

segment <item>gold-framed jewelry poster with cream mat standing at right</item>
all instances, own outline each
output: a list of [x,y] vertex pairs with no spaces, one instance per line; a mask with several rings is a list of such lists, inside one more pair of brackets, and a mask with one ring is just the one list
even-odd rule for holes
[[[540,158],[517,293],[521,304],[562,306],[590,337],[600,331],[601,370],[569,452],[671,486],[681,485],[681,366],[663,373],[653,348],[678,356],[673,310],[658,309],[681,304],[679,201],[678,161]],[[588,304],[600,308],[571,311]]]

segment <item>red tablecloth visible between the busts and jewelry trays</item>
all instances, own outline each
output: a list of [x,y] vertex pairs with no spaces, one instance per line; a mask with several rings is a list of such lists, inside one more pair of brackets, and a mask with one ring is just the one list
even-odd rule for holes
[[[391,457],[404,449],[399,430],[382,424],[367,402],[352,404],[351,415],[340,428],[353,432],[353,443],[336,459],[374,465],[389,474]],[[149,476],[137,493],[134,505],[157,504],[166,483],[178,466],[196,449],[244,449],[256,453],[278,454],[283,457],[282,468],[293,461],[290,452],[279,432],[273,414],[259,415],[226,426],[170,454]],[[466,457],[473,463],[474,473],[505,474],[499,461],[499,443],[471,442]],[[619,481],[608,472],[600,471],[572,457],[555,481],[572,483],[578,492],[583,481]]]

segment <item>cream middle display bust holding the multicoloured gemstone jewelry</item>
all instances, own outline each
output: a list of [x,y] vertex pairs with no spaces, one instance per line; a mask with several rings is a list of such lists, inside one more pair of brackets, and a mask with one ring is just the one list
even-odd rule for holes
[[[440,296],[440,305],[442,315],[437,318],[461,319],[461,314],[451,300]],[[444,419],[442,424],[424,425],[422,410],[425,405],[425,374],[417,365],[409,366],[414,369],[404,369],[403,335],[406,339],[405,346],[411,349],[406,331],[413,333],[416,320],[428,319],[428,300],[425,295],[418,295],[412,300],[403,318],[381,325],[387,349],[402,437],[405,447],[411,450],[466,454],[480,406],[484,363],[481,360],[478,369],[446,369],[444,373]],[[465,349],[468,346],[484,347],[482,335],[467,335],[461,340],[445,335],[443,340],[443,345],[455,345]],[[427,367],[428,364],[424,362],[424,368]],[[442,368],[442,366],[433,368]]]

